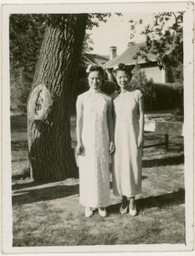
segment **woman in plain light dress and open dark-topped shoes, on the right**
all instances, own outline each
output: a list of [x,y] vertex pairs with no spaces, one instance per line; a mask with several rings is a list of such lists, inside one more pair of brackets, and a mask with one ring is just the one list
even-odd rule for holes
[[112,155],[114,195],[122,195],[120,213],[136,215],[135,195],[141,193],[141,163],[144,131],[143,95],[129,87],[129,68],[123,63],[113,68],[120,87],[112,94],[115,152]]

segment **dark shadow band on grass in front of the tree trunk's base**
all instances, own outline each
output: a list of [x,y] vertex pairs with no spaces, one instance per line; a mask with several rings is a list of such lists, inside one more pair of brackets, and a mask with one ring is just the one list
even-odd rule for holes
[[[33,184],[35,185],[35,183],[31,183],[32,186]],[[15,193],[17,194],[12,196],[13,204],[31,204],[37,201],[49,201],[76,195],[79,193],[79,185],[58,185],[41,189],[24,189],[15,191]]]

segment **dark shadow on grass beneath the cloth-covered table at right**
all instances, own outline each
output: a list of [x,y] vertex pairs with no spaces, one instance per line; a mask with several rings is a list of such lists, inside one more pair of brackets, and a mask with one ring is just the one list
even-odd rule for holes
[[184,155],[168,157],[163,159],[152,159],[152,160],[143,160],[142,166],[145,168],[150,168],[153,166],[174,166],[181,165],[184,163]]

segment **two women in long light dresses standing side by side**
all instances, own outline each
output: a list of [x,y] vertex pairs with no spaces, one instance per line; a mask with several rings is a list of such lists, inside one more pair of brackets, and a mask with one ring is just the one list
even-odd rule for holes
[[89,67],[87,73],[89,90],[77,98],[80,203],[86,217],[93,214],[93,208],[99,208],[100,216],[106,217],[110,205],[109,153],[113,153],[113,193],[123,198],[119,212],[126,213],[129,207],[129,213],[135,215],[135,195],[141,193],[141,91],[129,88],[130,73],[123,64],[113,69],[120,90],[112,97],[100,91],[104,78],[101,67]]

